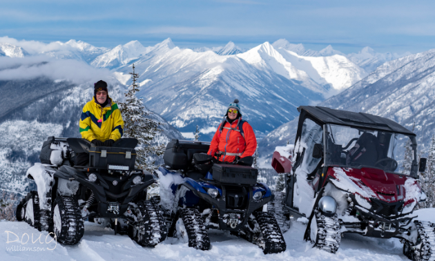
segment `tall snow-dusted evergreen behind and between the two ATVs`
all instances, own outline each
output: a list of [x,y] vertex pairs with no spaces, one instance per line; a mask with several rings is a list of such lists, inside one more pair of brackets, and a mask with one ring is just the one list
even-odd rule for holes
[[164,153],[164,144],[153,144],[155,135],[163,131],[159,128],[163,123],[150,119],[149,116],[153,113],[146,109],[142,99],[137,98],[139,74],[135,72],[135,64],[133,64],[132,68],[133,72],[130,72],[130,74],[133,83],[124,94],[126,101],[118,102],[118,108],[124,119],[124,137],[138,140],[136,167],[153,172],[156,169],[155,155],[160,156]]

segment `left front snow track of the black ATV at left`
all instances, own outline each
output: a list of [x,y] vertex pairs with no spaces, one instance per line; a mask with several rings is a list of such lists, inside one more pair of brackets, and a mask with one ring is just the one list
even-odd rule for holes
[[61,244],[77,244],[84,234],[79,203],[74,197],[57,196],[53,209],[53,232]]

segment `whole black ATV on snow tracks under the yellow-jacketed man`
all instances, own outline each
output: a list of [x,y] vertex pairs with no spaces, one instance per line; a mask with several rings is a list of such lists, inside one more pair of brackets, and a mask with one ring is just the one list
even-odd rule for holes
[[[154,247],[167,229],[157,203],[146,200],[153,175],[135,168],[137,139],[119,139],[112,147],[86,139],[48,137],[29,168],[35,180],[17,206],[17,220],[39,231],[50,231],[61,244],[76,244],[84,235],[84,220],[128,233],[138,244]],[[87,166],[74,166],[74,155],[88,153]]]

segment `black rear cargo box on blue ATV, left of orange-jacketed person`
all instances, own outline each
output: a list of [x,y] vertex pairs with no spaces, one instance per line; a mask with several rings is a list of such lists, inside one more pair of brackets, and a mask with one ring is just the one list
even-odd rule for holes
[[209,147],[210,142],[172,139],[166,146],[166,151],[163,155],[164,164],[172,169],[186,170],[191,166],[193,154],[207,153]]

